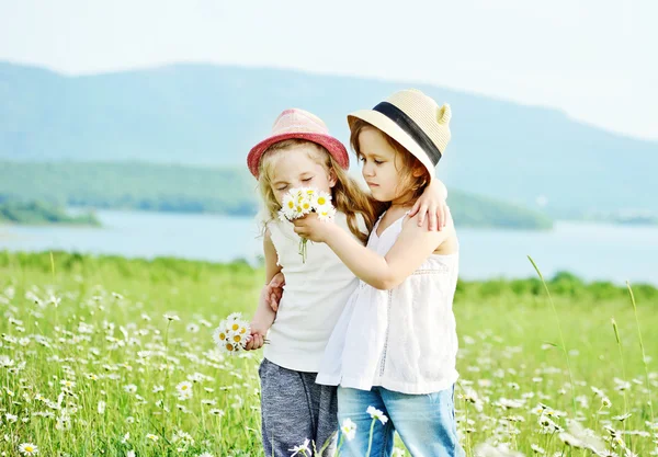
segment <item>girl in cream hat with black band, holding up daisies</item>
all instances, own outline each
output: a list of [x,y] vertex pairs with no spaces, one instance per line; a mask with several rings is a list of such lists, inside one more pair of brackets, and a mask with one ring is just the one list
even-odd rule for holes
[[445,153],[450,117],[449,105],[416,90],[348,117],[363,178],[388,207],[367,247],[313,214],[295,221],[296,233],[326,243],[361,279],[316,380],[340,386],[339,420],[356,425],[342,456],[390,455],[394,430],[413,456],[463,454],[453,402],[457,237],[450,217],[445,229],[430,231],[409,214]]

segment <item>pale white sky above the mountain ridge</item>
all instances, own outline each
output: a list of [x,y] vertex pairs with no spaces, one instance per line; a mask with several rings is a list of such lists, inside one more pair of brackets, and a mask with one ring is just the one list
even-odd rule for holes
[[0,60],[91,75],[172,62],[408,81],[658,140],[656,0],[0,0]]

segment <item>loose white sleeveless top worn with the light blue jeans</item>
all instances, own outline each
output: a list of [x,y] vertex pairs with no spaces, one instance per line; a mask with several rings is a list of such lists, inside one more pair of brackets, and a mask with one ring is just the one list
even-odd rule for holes
[[[406,219],[381,237],[371,232],[367,248],[386,255]],[[452,310],[458,253],[430,255],[402,284],[379,290],[364,282],[350,297],[327,344],[316,382],[402,393],[430,393],[458,378],[457,334]]]

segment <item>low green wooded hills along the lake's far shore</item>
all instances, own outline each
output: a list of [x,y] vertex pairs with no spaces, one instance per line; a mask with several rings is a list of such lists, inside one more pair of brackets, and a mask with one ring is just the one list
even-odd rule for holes
[[[138,162],[2,162],[0,204],[50,205],[251,216],[257,183],[245,168],[182,167]],[[458,227],[547,229],[551,219],[490,198],[450,192]],[[0,212],[2,206],[0,206]],[[0,213],[0,221],[2,220]]]

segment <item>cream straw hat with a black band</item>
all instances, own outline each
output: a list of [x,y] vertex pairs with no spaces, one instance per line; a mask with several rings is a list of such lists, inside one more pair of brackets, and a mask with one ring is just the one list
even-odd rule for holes
[[430,176],[450,141],[451,110],[416,89],[396,92],[372,110],[348,115],[350,128],[356,119],[377,127],[402,145],[426,167]]

